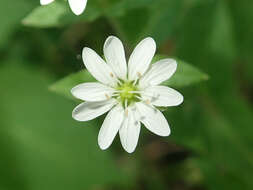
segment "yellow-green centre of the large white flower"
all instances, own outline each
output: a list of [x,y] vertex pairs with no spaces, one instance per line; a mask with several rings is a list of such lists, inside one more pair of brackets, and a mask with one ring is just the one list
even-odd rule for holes
[[116,90],[119,92],[119,100],[124,107],[129,106],[133,102],[139,101],[138,88],[135,86],[133,81],[122,82]]

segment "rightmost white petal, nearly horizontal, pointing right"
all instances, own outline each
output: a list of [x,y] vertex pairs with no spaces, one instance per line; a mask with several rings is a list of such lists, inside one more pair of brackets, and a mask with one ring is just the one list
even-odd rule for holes
[[167,86],[151,86],[142,92],[142,98],[155,106],[177,106],[184,97],[176,90]]

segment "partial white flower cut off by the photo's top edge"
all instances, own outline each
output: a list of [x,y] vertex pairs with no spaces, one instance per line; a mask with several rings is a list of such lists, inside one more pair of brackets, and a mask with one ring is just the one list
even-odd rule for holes
[[[40,4],[47,5],[52,3],[53,1],[54,0],[40,0]],[[82,14],[87,4],[87,0],[68,0],[68,2],[71,10],[76,15]]]

